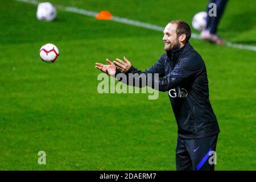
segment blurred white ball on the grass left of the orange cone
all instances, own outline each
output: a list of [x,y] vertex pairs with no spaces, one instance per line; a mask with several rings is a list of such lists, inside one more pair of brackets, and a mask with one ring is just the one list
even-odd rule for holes
[[57,11],[55,7],[52,5],[52,3],[49,2],[43,2],[39,3],[38,10],[36,11],[36,17],[40,21],[52,21],[56,18]]

